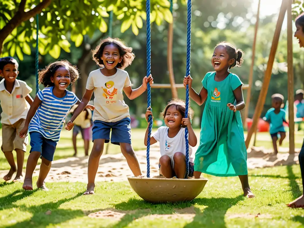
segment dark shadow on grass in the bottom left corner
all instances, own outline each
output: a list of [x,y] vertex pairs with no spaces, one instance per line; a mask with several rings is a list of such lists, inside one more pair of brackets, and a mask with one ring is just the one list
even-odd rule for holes
[[[47,202],[39,206],[36,205],[30,207],[19,206],[20,210],[30,212],[33,214],[33,216],[26,221],[22,221],[6,227],[13,227],[13,228],[36,227],[36,226],[46,227],[50,224],[54,226],[56,224],[63,223],[65,221],[74,219],[76,217],[83,217],[84,213],[82,212],[82,210],[59,209],[60,205],[64,204],[65,202],[74,200],[81,195],[82,193],[78,193],[73,197],[60,199],[57,202]],[[51,215],[45,214],[48,210],[51,211]]]

